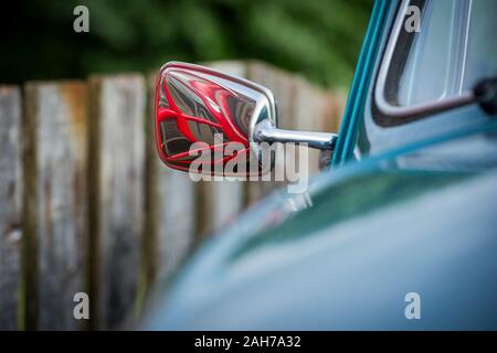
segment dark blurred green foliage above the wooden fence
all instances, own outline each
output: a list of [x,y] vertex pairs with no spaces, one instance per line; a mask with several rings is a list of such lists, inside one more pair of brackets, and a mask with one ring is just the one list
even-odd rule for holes
[[[21,2],[21,1],[19,1]],[[89,33],[73,9],[89,9]],[[372,0],[32,0],[1,20],[0,82],[257,58],[348,85]]]

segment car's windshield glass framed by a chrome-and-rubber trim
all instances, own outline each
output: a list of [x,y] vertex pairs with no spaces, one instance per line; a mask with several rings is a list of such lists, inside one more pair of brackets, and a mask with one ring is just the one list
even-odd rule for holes
[[[420,31],[401,31],[385,83],[396,106],[442,100],[497,73],[497,1],[417,1]],[[405,50],[406,49],[406,50]]]

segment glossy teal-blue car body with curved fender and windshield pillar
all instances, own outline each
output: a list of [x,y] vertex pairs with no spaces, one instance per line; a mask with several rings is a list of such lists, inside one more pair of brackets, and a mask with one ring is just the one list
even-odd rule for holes
[[[305,195],[282,190],[220,229],[144,328],[497,329],[496,117],[473,104],[394,120],[376,107],[385,49],[413,3],[374,4],[331,168]],[[422,87],[436,86],[430,75]],[[411,293],[420,318],[405,312]]]

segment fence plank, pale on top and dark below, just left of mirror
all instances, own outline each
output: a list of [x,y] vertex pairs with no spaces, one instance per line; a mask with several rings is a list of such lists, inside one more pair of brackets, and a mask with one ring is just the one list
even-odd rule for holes
[[89,238],[93,328],[133,319],[144,222],[146,85],[141,75],[91,78]]

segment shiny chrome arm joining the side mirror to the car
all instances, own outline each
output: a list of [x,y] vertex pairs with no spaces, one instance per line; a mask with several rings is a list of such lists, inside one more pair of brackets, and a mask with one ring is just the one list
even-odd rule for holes
[[307,143],[310,148],[326,151],[334,151],[337,138],[337,133],[278,129],[267,120],[254,128],[255,142]]

